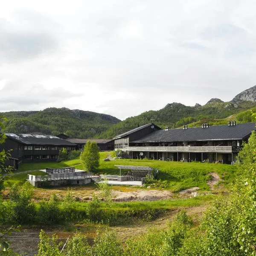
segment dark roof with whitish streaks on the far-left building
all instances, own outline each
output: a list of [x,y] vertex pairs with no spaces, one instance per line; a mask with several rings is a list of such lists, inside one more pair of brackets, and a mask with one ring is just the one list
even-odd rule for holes
[[53,135],[35,135],[35,134],[5,134],[9,139],[15,140],[26,145],[55,145],[55,146],[75,146],[67,140],[63,140]]

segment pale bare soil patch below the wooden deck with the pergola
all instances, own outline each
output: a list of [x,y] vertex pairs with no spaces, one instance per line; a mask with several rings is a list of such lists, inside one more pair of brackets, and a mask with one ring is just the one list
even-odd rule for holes
[[173,193],[169,190],[137,190],[131,192],[113,191],[115,198],[112,201],[155,201],[163,199],[172,199]]

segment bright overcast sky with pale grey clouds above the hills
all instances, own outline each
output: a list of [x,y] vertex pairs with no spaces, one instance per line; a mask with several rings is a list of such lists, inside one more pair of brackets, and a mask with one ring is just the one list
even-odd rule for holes
[[256,84],[255,9],[255,0],[4,1],[0,112],[125,119],[230,101]]

